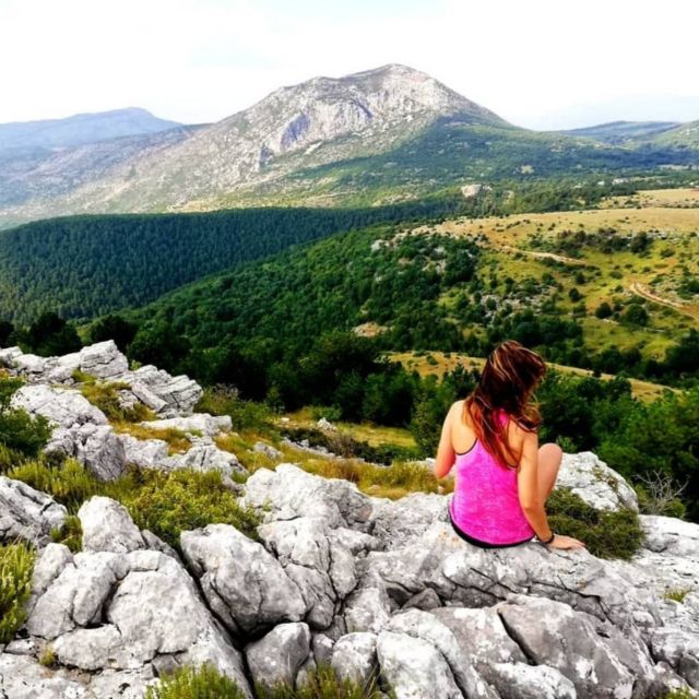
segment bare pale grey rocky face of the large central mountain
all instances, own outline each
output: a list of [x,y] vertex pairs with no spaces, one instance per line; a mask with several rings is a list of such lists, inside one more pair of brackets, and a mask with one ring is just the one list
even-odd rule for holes
[[281,87],[166,151],[137,153],[60,201],[37,202],[32,215],[211,209],[206,200],[300,167],[384,152],[437,119],[455,116],[508,126],[405,66],[315,78]]

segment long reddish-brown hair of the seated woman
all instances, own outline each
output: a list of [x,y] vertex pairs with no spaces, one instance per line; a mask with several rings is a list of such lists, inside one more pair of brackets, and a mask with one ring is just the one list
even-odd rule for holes
[[507,425],[498,422],[498,412],[505,411],[524,429],[536,429],[542,418],[530,396],[545,374],[540,355],[507,340],[490,353],[478,384],[464,401],[464,420],[470,415],[478,441],[503,466],[512,466],[519,457],[507,443]]

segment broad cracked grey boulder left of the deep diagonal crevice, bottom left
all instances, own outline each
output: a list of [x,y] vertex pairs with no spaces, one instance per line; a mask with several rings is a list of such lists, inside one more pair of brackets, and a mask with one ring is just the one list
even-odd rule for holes
[[[104,500],[92,500],[82,516],[84,525],[86,513],[94,522],[104,517],[116,533],[116,543],[107,546],[112,550],[72,556],[51,544],[37,559],[25,629],[29,640],[50,642],[58,663],[58,670],[43,668],[43,676],[60,677],[64,667],[98,672],[81,675],[85,697],[121,697],[133,687],[134,694],[123,696],[135,698],[165,667],[209,662],[250,697],[241,655],[191,577],[171,556],[131,548],[138,530]],[[125,536],[125,530],[130,534]],[[36,659],[29,660],[26,696],[44,696],[42,682],[32,675]]]

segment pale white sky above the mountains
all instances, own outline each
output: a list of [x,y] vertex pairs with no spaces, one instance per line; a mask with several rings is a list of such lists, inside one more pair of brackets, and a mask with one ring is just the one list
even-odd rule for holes
[[533,129],[694,120],[698,26],[696,0],[0,0],[0,122],[210,122],[386,63]]

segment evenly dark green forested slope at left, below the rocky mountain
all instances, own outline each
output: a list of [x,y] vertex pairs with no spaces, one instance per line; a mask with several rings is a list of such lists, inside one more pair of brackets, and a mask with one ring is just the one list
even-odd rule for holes
[[455,199],[364,210],[246,209],[67,216],[0,233],[0,318],[93,317],[307,240],[375,222],[425,220]]

